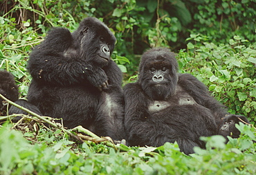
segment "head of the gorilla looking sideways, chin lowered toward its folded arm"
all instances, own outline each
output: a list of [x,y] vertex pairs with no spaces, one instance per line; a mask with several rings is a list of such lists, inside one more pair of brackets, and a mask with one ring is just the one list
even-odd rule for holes
[[107,65],[116,43],[107,25],[98,19],[86,18],[73,32],[73,37],[82,58],[100,67]]

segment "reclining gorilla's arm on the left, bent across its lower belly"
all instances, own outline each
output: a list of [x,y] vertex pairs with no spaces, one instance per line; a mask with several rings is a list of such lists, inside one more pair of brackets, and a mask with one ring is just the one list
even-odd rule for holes
[[[174,143],[177,141],[182,152],[190,154],[194,146],[200,146],[196,143],[194,134],[181,129],[181,132],[175,132],[172,126],[186,127],[183,123],[171,121],[168,112],[163,110],[163,114],[150,114],[148,110],[149,99],[140,88],[138,83],[129,83],[125,85],[125,129],[127,132],[127,142],[130,146],[161,146],[166,142]],[[160,116],[160,117],[158,117]],[[184,138],[186,136],[186,138]],[[188,139],[187,139],[188,138]],[[191,139],[190,139],[191,138]]]

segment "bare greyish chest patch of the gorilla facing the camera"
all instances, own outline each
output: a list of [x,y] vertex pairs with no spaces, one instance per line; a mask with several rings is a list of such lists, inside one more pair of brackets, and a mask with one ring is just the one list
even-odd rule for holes
[[195,105],[196,101],[192,98],[192,96],[188,94],[177,94],[171,97],[171,99],[167,99],[167,101],[153,101],[148,106],[148,110],[150,113],[158,112],[164,110],[167,107],[182,107],[185,105]]

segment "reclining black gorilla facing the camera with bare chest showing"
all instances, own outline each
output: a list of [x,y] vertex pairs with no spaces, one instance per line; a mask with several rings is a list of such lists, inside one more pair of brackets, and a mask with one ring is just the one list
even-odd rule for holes
[[145,52],[136,83],[125,85],[128,145],[161,146],[176,141],[182,152],[205,147],[200,136],[217,134],[228,112],[191,74],[177,74],[178,63],[167,48]]

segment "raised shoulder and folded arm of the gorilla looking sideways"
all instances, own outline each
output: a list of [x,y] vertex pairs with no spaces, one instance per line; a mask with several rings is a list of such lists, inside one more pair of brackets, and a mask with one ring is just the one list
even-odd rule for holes
[[66,28],[54,28],[46,39],[33,50],[28,70],[38,82],[53,85],[75,85],[89,81],[99,87],[107,81],[107,75],[99,67],[80,58],[71,32]]

